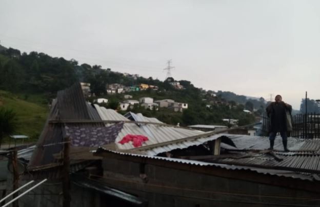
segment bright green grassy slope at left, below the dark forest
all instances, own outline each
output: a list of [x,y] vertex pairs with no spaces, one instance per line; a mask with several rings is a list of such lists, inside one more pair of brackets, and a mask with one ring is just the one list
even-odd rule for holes
[[[17,129],[14,134],[27,135],[30,137],[29,141],[38,139],[49,112],[45,98],[41,95],[25,96],[0,90],[0,106],[16,113]],[[8,142],[8,137],[4,142]]]

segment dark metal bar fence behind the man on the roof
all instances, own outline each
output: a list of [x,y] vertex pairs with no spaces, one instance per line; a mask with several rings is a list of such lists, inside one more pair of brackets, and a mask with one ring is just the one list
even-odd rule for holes
[[[262,135],[269,135],[270,118],[263,116]],[[320,114],[308,113],[292,116],[292,137],[303,139],[320,138]]]

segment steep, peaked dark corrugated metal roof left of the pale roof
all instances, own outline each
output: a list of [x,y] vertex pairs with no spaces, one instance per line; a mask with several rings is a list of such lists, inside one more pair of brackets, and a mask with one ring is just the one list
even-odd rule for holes
[[[101,120],[101,118],[96,110],[86,102],[79,83],[59,91],[57,98],[52,102],[50,114],[30,158],[28,168],[55,162],[56,158],[53,155],[62,151],[61,142],[65,136],[64,124],[50,123],[49,120]],[[103,123],[70,125],[104,127]]]

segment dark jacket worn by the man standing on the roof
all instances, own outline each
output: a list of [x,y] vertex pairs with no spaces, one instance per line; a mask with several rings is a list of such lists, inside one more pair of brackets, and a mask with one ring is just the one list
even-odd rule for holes
[[292,107],[285,102],[271,102],[266,108],[268,117],[270,117],[269,132],[287,132],[287,112],[292,111]]

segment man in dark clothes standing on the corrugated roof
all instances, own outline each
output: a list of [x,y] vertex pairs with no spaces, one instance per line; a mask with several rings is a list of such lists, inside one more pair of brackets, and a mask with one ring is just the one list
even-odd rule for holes
[[[287,113],[291,115],[292,107],[282,101],[281,95],[275,96],[275,101],[271,102],[266,109],[268,117],[270,117],[271,125],[269,129],[269,139],[270,139],[270,148],[269,150],[273,150],[274,139],[276,134],[279,132],[282,137],[282,143],[284,145],[285,152],[289,152],[287,148]],[[289,120],[291,121],[291,119]],[[290,123],[291,124],[291,123]]]

